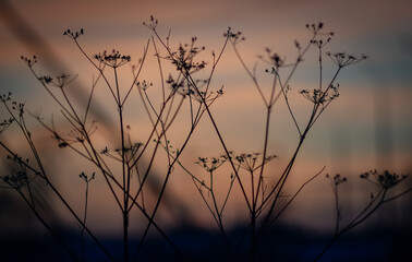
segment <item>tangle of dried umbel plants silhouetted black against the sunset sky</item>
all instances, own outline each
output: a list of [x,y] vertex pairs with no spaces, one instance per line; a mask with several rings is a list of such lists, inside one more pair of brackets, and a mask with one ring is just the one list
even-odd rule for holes
[[[83,108],[81,106],[75,106],[73,98],[70,97],[66,92],[66,86],[76,79],[76,75],[72,76],[66,73],[61,73],[56,76],[51,76],[48,74],[43,74],[41,71],[35,67],[37,63],[36,57],[22,57],[22,60],[27,64],[28,69],[38,80],[40,85],[59,106],[63,119],[71,127],[71,131],[68,134],[63,134],[58,127],[54,126],[53,120],[48,123],[40,115],[32,114],[32,116],[51,134],[58,147],[75,152],[77,155],[86,159],[95,170],[90,177],[88,177],[85,172],[81,172],[80,175],[80,178],[86,182],[83,218],[71,207],[70,203],[61,194],[59,188],[54,186],[52,175],[50,175],[50,170],[45,168],[45,163],[41,159],[40,153],[37,151],[37,146],[33,140],[33,134],[29,131],[29,128],[26,126],[25,105],[23,103],[13,102],[11,99],[11,93],[1,96],[3,107],[7,109],[10,116],[0,123],[0,134],[4,133],[10,126],[16,124],[22,131],[23,138],[31,150],[31,156],[25,157],[31,159],[33,158],[34,160],[23,158],[23,156],[17,154],[17,152],[14,151],[7,143],[7,141],[1,139],[1,147],[4,148],[9,155],[9,158],[19,167],[17,171],[12,171],[9,175],[2,176],[2,180],[21,195],[37,218],[63,245],[74,260],[85,261],[86,250],[84,245],[84,233],[87,233],[107,255],[108,260],[117,261],[114,255],[108,251],[99,238],[94,235],[89,226],[86,225],[89,182],[95,178],[95,176],[99,176],[105,179],[110,195],[114,199],[119,212],[122,214],[123,261],[126,262],[138,260],[140,252],[143,249],[143,245],[152,227],[155,227],[156,230],[177,251],[180,259],[184,260],[189,259],[184,253],[184,250],[181,250],[156,222],[156,215],[158,213],[160,202],[165,196],[167,184],[169,184],[170,177],[172,176],[173,171],[175,171],[175,167],[179,166],[186,175],[190,176],[203,200],[203,203],[206,205],[213,216],[213,219],[218,226],[228,251],[227,257],[223,259],[239,260],[242,259],[240,255],[246,252],[249,253],[247,258],[250,261],[256,261],[258,259],[258,242],[262,241],[265,231],[267,231],[267,229],[274,225],[277,218],[289,207],[296,195],[300,194],[302,189],[324,171],[325,168],[311,177],[291,196],[283,194],[286,183],[291,176],[292,168],[295,165],[296,157],[301,152],[302,145],[306,140],[308,132],[312,130],[313,126],[315,122],[317,122],[325,109],[339,97],[339,84],[337,83],[337,78],[341,70],[346,67],[363,61],[366,59],[366,57],[362,55],[360,58],[356,58],[342,52],[326,52],[326,56],[328,56],[336,64],[334,74],[326,82],[323,73],[323,59],[325,56],[324,47],[330,43],[334,33],[324,33],[323,23],[306,25],[311,33],[311,38],[305,45],[301,45],[298,41],[294,43],[296,48],[296,57],[294,60],[287,61],[278,53],[272,52],[269,48],[266,48],[266,53],[259,57],[259,59],[268,67],[265,72],[272,78],[271,85],[265,87],[259,83],[256,67],[250,68],[249,63],[245,62],[241,56],[240,44],[245,40],[242,33],[234,33],[231,28],[228,28],[228,31],[225,33],[225,40],[220,51],[211,52],[213,61],[208,64],[203,60],[197,60],[198,55],[205,50],[205,47],[197,46],[196,37],[192,37],[190,44],[181,44],[174,49],[170,45],[170,33],[166,37],[160,36],[158,33],[158,21],[155,17],[150,16],[149,22],[144,23],[144,25],[152,31],[153,36],[144,47],[142,59],[140,59],[136,64],[132,64],[133,59],[129,55],[122,55],[116,49],[112,49],[112,51],[104,50],[97,55],[90,56],[83,49],[80,43],[81,36],[84,35],[83,29],[80,29],[78,32],[68,29],[64,32],[64,35],[74,41],[74,45],[78,51],[83,53],[85,59],[98,72],[98,76],[94,79],[88,91],[87,103],[86,105],[83,105]],[[215,121],[214,114],[210,111],[210,107],[214,105],[214,103],[221,95],[223,95],[223,87],[214,88],[210,83],[223,52],[230,45],[233,48],[241,66],[252,80],[252,85],[259,94],[266,109],[266,122],[264,127],[265,134],[262,138],[262,152],[234,154],[227,145],[221,130]],[[159,86],[156,86],[153,84],[153,82],[145,80],[142,76],[142,69],[145,64],[150,46],[153,46],[158,71],[160,73]],[[310,102],[311,106],[311,115],[308,118],[301,119],[300,116],[295,115],[294,108],[289,103],[289,94],[292,91],[291,80],[299,66],[303,62],[303,58],[311,48],[315,48],[318,52],[319,80],[318,87],[311,91],[302,90],[299,92]],[[166,52],[166,55],[161,55],[161,52]],[[163,70],[165,62],[173,66],[175,71],[166,73]],[[119,70],[122,70],[122,66],[128,63],[132,64],[133,80],[130,85],[123,88],[119,81]],[[207,78],[198,79],[196,76],[197,73],[205,72],[208,67],[209,72],[207,73]],[[113,76],[111,78],[110,75]],[[118,126],[116,127],[117,130],[114,131],[116,134],[113,134],[113,140],[119,140],[120,142],[114,148],[110,148],[108,145],[104,146],[104,148],[98,148],[96,143],[97,139],[94,138],[94,134],[97,132],[98,124],[96,120],[90,119],[90,106],[94,102],[97,92],[96,87],[99,82],[102,82],[106,88],[108,88],[110,92],[110,96],[112,98],[111,108],[113,110],[116,109],[117,112]],[[325,82],[326,85],[324,84]],[[159,92],[160,94],[160,107],[155,106],[154,99],[150,98],[149,91],[154,88],[157,88],[154,92]],[[265,88],[268,88],[269,95],[265,92]],[[126,123],[128,119],[125,118],[124,112],[124,106],[128,103],[131,103],[132,92],[138,94],[141,103],[148,116],[149,124],[152,124],[152,131],[145,138],[140,138],[140,141],[135,141],[134,138],[130,135],[131,127]],[[274,106],[277,103],[280,103],[281,99],[283,99],[287,105],[288,114],[294,124],[299,139],[298,145],[294,148],[288,165],[283,170],[281,170],[280,176],[276,176],[274,175],[274,171],[268,170],[266,166],[268,163],[277,158],[275,154],[269,153],[268,143],[270,119],[274,112]],[[184,103],[187,103],[189,107],[190,127],[184,131],[186,132],[184,141],[179,144],[179,146],[174,147],[172,142],[169,140],[168,131],[174,123],[177,116],[181,112],[182,105]],[[110,105],[108,105],[108,107]],[[218,141],[221,145],[221,150],[223,151],[223,154],[219,157],[208,158],[202,156],[195,162],[204,169],[204,171],[206,171],[207,179],[203,179],[203,176],[190,170],[190,168],[180,159],[182,152],[190,143],[194,130],[197,128],[201,119],[204,117],[210,120],[214,131],[216,132]],[[304,124],[302,124],[302,122],[304,122]],[[166,157],[163,159],[163,164],[166,165],[166,174],[163,180],[161,181],[158,194],[155,196],[154,201],[148,203],[148,198],[145,198],[144,195],[148,190],[147,181],[149,177],[153,176],[152,171],[155,158],[159,155],[159,148],[162,148],[166,152]],[[147,165],[141,165],[144,157],[148,159]],[[230,175],[227,176],[228,184],[223,194],[225,196],[220,200],[216,193],[216,179],[214,178],[216,175],[215,171],[223,165],[229,165]],[[120,171],[114,171],[117,169]],[[275,181],[272,184],[268,182],[270,181],[269,178],[271,181]],[[392,187],[403,181],[405,176],[398,176],[389,171],[385,171],[384,174],[369,171],[361,175],[361,178],[377,184],[379,191],[376,194],[372,194],[369,204],[363,211],[361,211],[351,223],[349,223],[346,227],[341,227],[340,221],[342,214],[339,203],[338,188],[347,179],[340,175],[329,178],[331,179],[334,196],[336,200],[336,227],[332,240],[326,246],[316,260],[318,260],[330,248],[338,237],[364,222],[373,213],[375,213],[381,204],[398,199],[411,191],[411,189],[408,189],[398,195],[388,198],[387,192]],[[37,211],[36,201],[33,198],[31,190],[31,183],[35,179],[41,180],[50,187],[51,191],[58,196],[63,206],[80,225],[82,240],[81,257],[73,251],[73,248],[69,247],[64,239],[62,239],[52,227],[50,227],[50,225]],[[249,212],[249,225],[246,227],[250,240],[247,248],[242,250],[240,254],[233,253],[233,243],[225,229],[226,223],[223,219],[223,213],[228,209],[227,203],[233,192],[233,187],[239,187]],[[288,198],[288,201],[286,204],[280,205],[279,201],[282,198]],[[137,247],[131,250],[129,225],[131,211],[133,209],[137,209],[140,211],[140,213],[146,218],[147,225],[140,237]],[[239,241],[242,240],[243,239],[240,239]]]

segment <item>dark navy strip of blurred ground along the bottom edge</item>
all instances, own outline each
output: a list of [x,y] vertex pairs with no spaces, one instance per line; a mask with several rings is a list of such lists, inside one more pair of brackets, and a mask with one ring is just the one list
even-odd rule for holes
[[[61,233],[69,245],[80,253],[78,233]],[[152,237],[143,246],[138,261],[249,261],[244,247],[239,243],[243,231],[230,233],[232,254],[216,233],[201,229],[179,229],[168,233],[183,253],[179,254],[163,238]],[[276,236],[276,237],[275,237]],[[322,236],[304,229],[282,226],[266,234],[258,245],[258,261],[313,261],[325,247],[330,236]],[[122,258],[121,239],[104,239],[104,245],[114,258]],[[137,240],[131,242],[136,247]],[[134,250],[135,248],[133,248]],[[46,234],[43,236],[16,237],[0,235],[0,261],[73,261],[66,251]],[[86,241],[86,261],[108,261],[89,239]],[[412,261],[412,230],[374,229],[342,236],[320,261],[334,262],[409,262]]]

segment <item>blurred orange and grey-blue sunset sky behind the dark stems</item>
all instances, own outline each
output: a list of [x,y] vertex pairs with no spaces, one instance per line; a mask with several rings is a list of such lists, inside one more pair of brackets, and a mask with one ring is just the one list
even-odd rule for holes
[[[223,33],[231,26],[246,37],[239,49],[252,68],[259,61],[257,57],[265,53],[266,47],[287,60],[293,60],[294,40],[305,44],[310,39],[311,33],[305,24],[323,22],[326,31],[335,32],[335,37],[325,47],[326,50],[344,51],[354,56],[365,53],[368,59],[347,68],[339,75],[340,97],[308,135],[286,190],[289,193],[294,192],[324,166],[325,174],[339,172],[347,176],[349,182],[342,188],[346,221],[367,203],[369,192],[374,190],[371,184],[364,186],[360,181],[360,174],[375,168],[398,174],[410,174],[412,170],[411,13],[412,3],[408,0],[0,0],[0,93],[12,92],[13,98],[25,102],[31,111],[41,112],[47,120],[50,120],[51,115],[59,119],[56,105],[47,97],[20,57],[36,55],[39,60],[37,69],[45,74],[78,74],[73,84],[73,97],[82,94],[89,88],[92,79],[97,73],[73,41],[63,36],[68,28],[84,28],[85,35],[80,41],[89,55],[116,48],[122,53],[131,55],[132,61],[136,61],[142,57],[143,48],[152,36],[152,32],[142,23],[148,22],[149,16],[154,15],[159,20],[158,31],[162,36],[171,29],[172,47],[189,43],[192,36],[197,36],[198,45],[206,47],[203,58],[211,61],[211,50],[218,51],[221,48]],[[257,69],[262,72],[265,67],[262,61],[257,63]],[[326,61],[325,68],[326,81],[332,72],[334,63]],[[317,70],[316,50],[313,49],[291,83],[292,106],[301,124],[304,123],[311,105],[299,95],[299,91],[311,90],[317,85]],[[130,83],[131,70],[124,67],[121,73],[124,83]],[[143,75],[154,83],[159,81],[153,49],[149,50]],[[259,76],[266,83],[267,75],[262,73]],[[213,111],[229,147],[238,153],[260,152],[265,108],[231,47],[226,50],[214,80],[215,88],[221,85],[225,85],[225,95],[216,102]],[[111,112],[116,112],[116,109],[110,103],[105,94],[97,96],[94,114],[101,126],[109,126],[114,121]],[[274,109],[269,139],[269,151],[279,156],[270,165],[274,174],[282,170],[298,143],[298,133],[283,104],[280,102]],[[1,110],[0,116],[3,118],[5,112]],[[140,135],[145,133],[140,130],[149,128],[148,122],[142,119],[144,112],[135,110],[129,120],[132,130],[136,131],[133,134],[137,141],[143,140],[144,135]],[[187,128],[184,121],[183,118],[177,122],[172,131],[171,140],[175,145],[184,139],[184,130]],[[56,175],[57,183],[75,209],[82,210],[84,184],[80,181],[78,174],[82,170],[93,170],[87,169],[85,163],[71,153],[59,151],[56,154],[59,148],[50,135],[35,121],[31,123],[50,168],[61,170]],[[64,124],[63,121],[61,124]],[[16,134],[11,132],[2,134],[0,139],[10,142],[14,148],[24,151],[24,145],[14,135]],[[107,143],[113,145],[116,141]],[[186,148],[186,154],[182,156],[182,162],[201,172],[194,165],[197,156],[218,156],[221,153],[222,148],[211,126],[205,119]],[[3,152],[0,155],[4,157]],[[157,171],[161,174],[161,167]],[[222,182],[226,181],[221,179]],[[399,186],[398,192],[410,184],[409,179]],[[105,198],[105,190],[104,180],[97,178],[90,189],[88,222],[101,236],[116,237],[121,228],[120,216],[112,212],[114,202]],[[211,216],[205,206],[198,204],[201,198],[196,193],[184,172],[175,170],[168,191],[172,201],[166,203],[168,207],[159,215],[161,223],[172,228],[184,221],[202,228],[214,228]],[[34,223],[31,219],[34,218],[21,206],[21,201],[14,198],[12,191],[1,190],[0,195],[2,239],[22,231],[31,236],[41,233],[40,228],[31,226]],[[411,231],[410,200],[411,196],[408,195],[384,206],[363,230],[389,230],[392,237],[387,239],[387,243],[398,238],[398,231]],[[302,230],[327,235],[334,226],[332,201],[329,180],[322,176],[305,189],[302,198],[284,214],[282,222],[298,225]],[[227,214],[228,224],[238,225],[242,222],[239,217],[242,217],[240,214],[244,212],[244,206],[240,202],[235,198],[232,200],[232,209]],[[56,211],[51,216],[56,216],[62,224],[72,223],[71,227],[76,228],[63,211],[59,211],[52,203],[50,205],[45,206],[45,210]],[[119,223],[111,223],[113,221]],[[132,227],[135,230],[141,228],[140,223]]]

